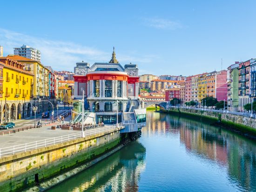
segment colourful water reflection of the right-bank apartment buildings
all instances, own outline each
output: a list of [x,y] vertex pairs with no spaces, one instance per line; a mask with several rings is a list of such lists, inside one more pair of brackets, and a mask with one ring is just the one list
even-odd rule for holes
[[226,171],[239,191],[256,191],[256,142],[209,123],[163,113],[148,113],[144,135],[179,135],[189,156],[211,160]]

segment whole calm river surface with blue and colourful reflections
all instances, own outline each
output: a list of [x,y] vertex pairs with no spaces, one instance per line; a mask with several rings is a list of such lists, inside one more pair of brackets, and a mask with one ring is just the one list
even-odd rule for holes
[[256,141],[147,112],[141,138],[49,192],[256,192]]

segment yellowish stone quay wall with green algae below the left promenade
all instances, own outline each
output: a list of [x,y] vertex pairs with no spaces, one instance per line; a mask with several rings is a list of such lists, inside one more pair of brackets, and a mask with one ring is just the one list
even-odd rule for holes
[[120,129],[0,158],[0,192],[16,192],[95,159],[121,143]]

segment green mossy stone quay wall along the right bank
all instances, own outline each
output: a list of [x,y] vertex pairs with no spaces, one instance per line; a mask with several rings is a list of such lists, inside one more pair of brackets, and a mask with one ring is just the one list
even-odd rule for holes
[[218,113],[189,108],[171,108],[167,111],[167,113],[169,112],[194,115],[197,117],[213,119],[216,121],[219,120],[223,125],[238,129],[242,132],[249,131],[256,135],[256,119],[253,118],[229,113]]

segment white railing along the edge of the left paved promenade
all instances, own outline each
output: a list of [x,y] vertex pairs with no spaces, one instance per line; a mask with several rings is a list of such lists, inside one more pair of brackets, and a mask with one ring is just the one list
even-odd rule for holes
[[[104,127],[98,127],[94,129],[86,129],[85,136],[89,135],[94,135],[97,133],[113,130],[117,127],[122,127],[124,126],[124,123],[119,123],[115,124],[112,126],[104,126]],[[17,152],[27,152],[28,150],[33,150],[33,149],[38,149],[40,147],[46,147],[50,145],[55,145],[58,143],[63,143],[65,141],[70,141],[76,138],[82,138],[82,132],[78,133],[73,133],[73,134],[68,134],[60,137],[54,137],[50,139],[44,139],[44,140],[39,140],[39,141],[34,141],[30,143],[25,143],[17,146],[10,146],[10,147],[5,147],[5,148],[0,148],[0,158],[5,156],[5,155],[14,155]]]

